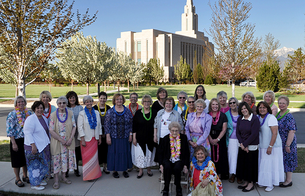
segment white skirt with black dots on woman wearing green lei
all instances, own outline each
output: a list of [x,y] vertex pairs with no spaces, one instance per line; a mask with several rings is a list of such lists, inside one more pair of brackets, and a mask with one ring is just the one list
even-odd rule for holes
[[155,155],[155,147],[151,152],[146,145],[146,155],[144,155],[144,152],[140,147],[139,143],[137,143],[137,146],[134,145],[131,146],[132,163],[138,168],[147,168],[147,167],[156,166],[157,163],[153,161],[154,155]]

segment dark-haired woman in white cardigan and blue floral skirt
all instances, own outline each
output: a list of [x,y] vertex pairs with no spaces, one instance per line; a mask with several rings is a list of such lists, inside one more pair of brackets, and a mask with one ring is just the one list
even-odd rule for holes
[[29,170],[30,188],[43,190],[51,174],[51,152],[49,123],[44,117],[44,103],[35,101],[31,107],[34,112],[25,121],[25,155]]

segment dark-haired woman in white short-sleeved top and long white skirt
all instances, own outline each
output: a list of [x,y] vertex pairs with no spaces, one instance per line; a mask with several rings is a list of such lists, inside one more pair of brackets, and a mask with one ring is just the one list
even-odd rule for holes
[[283,182],[284,165],[282,140],[278,134],[277,120],[272,115],[269,104],[261,101],[257,104],[256,113],[260,121],[259,154],[258,154],[258,185],[266,186],[270,192],[279,182]]

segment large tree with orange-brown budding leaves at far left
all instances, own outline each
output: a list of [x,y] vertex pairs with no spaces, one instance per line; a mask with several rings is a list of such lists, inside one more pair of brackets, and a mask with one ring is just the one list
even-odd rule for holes
[[26,97],[26,86],[40,75],[54,50],[95,21],[96,15],[90,17],[88,10],[74,16],[73,4],[67,0],[0,0],[0,47],[8,58],[6,63],[0,60],[0,69],[13,75],[11,84],[17,85],[19,95]]

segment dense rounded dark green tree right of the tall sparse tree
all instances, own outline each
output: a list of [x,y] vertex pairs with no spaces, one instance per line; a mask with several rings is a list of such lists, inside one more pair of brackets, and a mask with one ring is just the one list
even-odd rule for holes
[[278,91],[278,77],[280,76],[279,65],[277,61],[268,64],[264,61],[257,75],[257,89],[261,92]]

